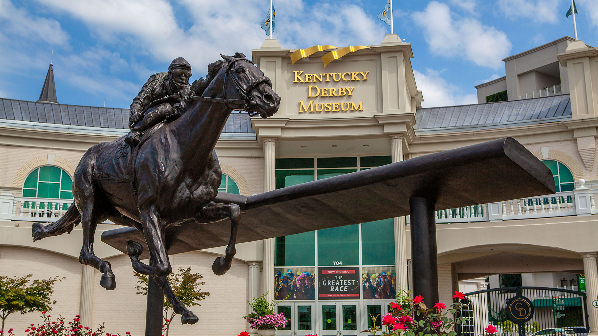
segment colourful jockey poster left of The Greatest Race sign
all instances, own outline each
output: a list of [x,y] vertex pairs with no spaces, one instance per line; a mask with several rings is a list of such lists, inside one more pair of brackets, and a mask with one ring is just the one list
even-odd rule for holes
[[274,268],[274,300],[316,300],[313,267]]

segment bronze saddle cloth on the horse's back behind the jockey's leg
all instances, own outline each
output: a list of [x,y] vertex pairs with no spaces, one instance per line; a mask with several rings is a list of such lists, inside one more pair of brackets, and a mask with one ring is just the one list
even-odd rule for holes
[[100,151],[102,154],[97,156],[93,164],[91,178],[111,182],[134,183],[135,159],[137,158],[139,148],[152,134],[166,124],[167,121],[164,120],[145,131],[135,148],[124,142],[126,136],[121,136],[112,142],[100,143],[102,145],[102,150]]

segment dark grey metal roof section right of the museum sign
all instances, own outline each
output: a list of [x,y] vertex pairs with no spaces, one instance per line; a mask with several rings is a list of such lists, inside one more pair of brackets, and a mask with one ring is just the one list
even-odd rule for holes
[[550,123],[571,118],[569,94],[474,105],[422,108],[416,130],[454,130]]

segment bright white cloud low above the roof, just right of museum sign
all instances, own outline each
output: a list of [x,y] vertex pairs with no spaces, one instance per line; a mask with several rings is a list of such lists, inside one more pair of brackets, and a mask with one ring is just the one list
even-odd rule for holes
[[440,72],[426,69],[423,74],[413,70],[417,88],[422,90],[422,107],[451,106],[475,104],[478,102],[477,94],[465,93],[462,88],[447,83],[440,77]]

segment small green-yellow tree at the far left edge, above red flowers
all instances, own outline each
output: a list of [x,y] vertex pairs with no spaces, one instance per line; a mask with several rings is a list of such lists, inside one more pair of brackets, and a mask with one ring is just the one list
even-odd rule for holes
[[4,322],[8,315],[15,311],[21,314],[32,311],[51,310],[50,304],[55,304],[56,300],[50,301],[50,295],[54,292],[54,282],[62,281],[65,278],[59,277],[45,279],[36,279],[29,284],[29,278],[33,274],[24,277],[0,276],[0,318],[2,319],[2,331],[4,331]]

